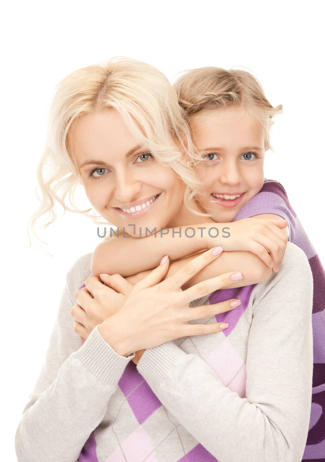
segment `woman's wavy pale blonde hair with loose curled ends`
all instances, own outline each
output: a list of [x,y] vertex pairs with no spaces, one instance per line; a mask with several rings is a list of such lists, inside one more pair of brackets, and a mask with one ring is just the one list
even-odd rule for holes
[[[207,216],[192,210],[189,205],[204,187],[191,167],[194,147],[176,91],[155,67],[115,57],[70,73],[56,87],[49,110],[46,147],[37,168],[41,191],[41,197],[37,194],[37,198],[41,203],[28,222],[28,231],[31,228],[38,239],[36,222],[48,213],[41,226],[45,229],[57,219],[55,202],[61,204],[64,213],[66,210],[83,213],[95,223],[103,223],[98,213],[89,213],[95,209],[80,210],[74,202],[75,190],[81,181],[69,152],[69,129],[82,116],[109,108],[116,109],[123,116],[141,145],[150,150],[159,163],[171,167],[184,181],[185,205],[193,213]],[[170,137],[176,148],[171,145]],[[71,207],[66,205],[67,196]]]

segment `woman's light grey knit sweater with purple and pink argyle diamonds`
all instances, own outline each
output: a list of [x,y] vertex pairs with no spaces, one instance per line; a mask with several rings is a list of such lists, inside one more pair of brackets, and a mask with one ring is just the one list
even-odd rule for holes
[[137,366],[98,326],[83,346],[74,332],[91,255],[67,273],[16,432],[18,462],[301,461],[313,374],[313,278],[301,249],[288,242],[279,273],[218,315],[228,329],[150,348]]

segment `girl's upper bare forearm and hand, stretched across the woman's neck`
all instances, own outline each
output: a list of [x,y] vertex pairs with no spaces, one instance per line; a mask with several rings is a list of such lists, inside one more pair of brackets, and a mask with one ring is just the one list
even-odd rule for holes
[[[256,272],[258,272],[258,279],[262,279],[256,282],[260,282],[264,280],[265,264],[270,265],[271,263],[271,256],[266,249],[271,249],[272,258],[276,257],[276,262],[280,261],[279,251],[276,249],[277,253],[274,254],[272,245],[277,240],[282,244],[284,252],[287,236],[281,228],[287,225],[287,222],[278,219],[275,224],[272,220],[257,221],[255,219],[251,225],[247,224],[247,221],[249,220],[245,220],[245,223],[222,224],[209,222],[192,227],[183,226],[180,228],[180,234],[174,233],[177,231],[175,229],[167,229],[164,230],[163,235],[157,233],[144,238],[120,236],[106,240],[99,244],[93,252],[92,273],[95,276],[107,273],[127,277],[156,267],[163,255],[169,255],[171,261],[176,261],[185,256],[195,255],[204,249],[221,245],[224,250],[239,250],[242,255],[245,254],[247,257],[246,274],[250,273],[251,265],[254,265],[252,279],[256,280]],[[264,235],[263,230],[267,231],[267,236]],[[258,255],[260,259],[258,263],[251,252]],[[283,252],[280,254],[281,258]],[[223,261],[227,259],[227,255],[223,257]],[[229,259],[229,264],[232,264],[232,261]],[[211,277],[214,275],[211,274]]]

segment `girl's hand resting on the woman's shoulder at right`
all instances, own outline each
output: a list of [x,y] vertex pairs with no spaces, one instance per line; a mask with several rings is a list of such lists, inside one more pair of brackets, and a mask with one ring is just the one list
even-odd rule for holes
[[[227,251],[245,250],[249,251],[264,261],[265,265],[272,268],[275,273],[279,271],[279,263],[283,259],[283,255],[288,242],[288,235],[283,228],[288,225],[288,220],[282,218],[245,218],[232,223],[217,223],[212,226],[211,223],[204,224],[205,239],[208,247],[215,246],[215,236],[219,230],[218,242],[222,237],[222,248]],[[222,226],[221,226],[222,225]],[[228,228],[222,231],[222,228]],[[230,233],[230,236],[229,236]],[[211,234],[211,236],[209,235]]]

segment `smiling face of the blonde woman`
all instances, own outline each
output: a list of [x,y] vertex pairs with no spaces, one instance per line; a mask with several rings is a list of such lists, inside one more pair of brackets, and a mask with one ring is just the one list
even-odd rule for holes
[[131,236],[168,227],[182,208],[184,182],[139,146],[117,110],[83,116],[70,130],[70,146],[92,206]]

